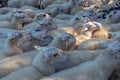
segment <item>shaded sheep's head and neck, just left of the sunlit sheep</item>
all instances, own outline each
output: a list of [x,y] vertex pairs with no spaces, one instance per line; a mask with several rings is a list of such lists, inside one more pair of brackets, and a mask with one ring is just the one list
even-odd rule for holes
[[60,33],[53,34],[53,40],[48,46],[54,46],[56,48],[68,51],[72,50],[72,46],[75,44],[76,39],[72,34],[69,33]]

